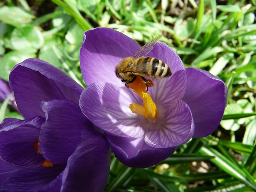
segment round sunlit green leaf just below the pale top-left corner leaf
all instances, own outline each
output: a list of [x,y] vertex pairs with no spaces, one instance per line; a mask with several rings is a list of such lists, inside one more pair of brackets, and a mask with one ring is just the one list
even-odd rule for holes
[[44,37],[40,30],[33,26],[15,28],[11,35],[11,44],[14,50],[35,53],[44,44]]

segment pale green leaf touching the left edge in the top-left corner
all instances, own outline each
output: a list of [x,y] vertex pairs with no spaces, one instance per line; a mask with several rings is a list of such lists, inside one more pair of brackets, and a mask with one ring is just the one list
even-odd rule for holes
[[12,26],[22,26],[23,24],[29,23],[32,19],[35,18],[29,12],[26,12],[20,7],[8,7],[2,6],[0,7],[0,20],[6,24],[10,24]]

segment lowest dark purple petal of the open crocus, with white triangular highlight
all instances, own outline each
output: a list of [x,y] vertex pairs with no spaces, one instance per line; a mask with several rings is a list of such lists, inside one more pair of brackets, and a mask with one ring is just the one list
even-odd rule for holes
[[140,138],[124,138],[106,134],[116,158],[128,167],[143,168],[168,158],[176,148],[154,148]]

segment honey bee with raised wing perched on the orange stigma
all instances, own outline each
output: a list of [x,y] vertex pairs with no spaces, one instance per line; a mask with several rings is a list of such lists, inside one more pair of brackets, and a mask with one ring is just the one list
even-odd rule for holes
[[118,66],[116,66],[116,76],[122,79],[122,82],[125,82],[127,88],[129,88],[127,84],[134,82],[137,76],[142,78],[148,90],[148,87],[152,86],[152,81],[150,79],[147,80],[145,77],[163,78],[172,75],[167,64],[157,58],[145,57],[161,37],[162,35],[156,36],[150,42],[142,46],[134,56],[124,58]]

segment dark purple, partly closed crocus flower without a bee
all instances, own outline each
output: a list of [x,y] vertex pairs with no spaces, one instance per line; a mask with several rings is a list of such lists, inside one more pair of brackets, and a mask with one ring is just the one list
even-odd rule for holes
[[0,124],[0,190],[103,191],[110,148],[78,106],[84,88],[38,59],[16,65],[10,87],[26,119]]

